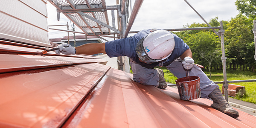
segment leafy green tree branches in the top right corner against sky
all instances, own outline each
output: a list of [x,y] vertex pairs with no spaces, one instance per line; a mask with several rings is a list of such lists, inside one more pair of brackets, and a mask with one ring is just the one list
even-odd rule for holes
[[256,18],[256,0],[236,0],[236,9],[247,17]]

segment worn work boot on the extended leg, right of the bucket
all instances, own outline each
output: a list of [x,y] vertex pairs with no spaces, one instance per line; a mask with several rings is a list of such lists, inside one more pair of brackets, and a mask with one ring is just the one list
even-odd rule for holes
[[221,90],[218,87],[216,87],[208,96],[213,101],[213,104],[211,105],[212,108],[221,111],[233,118],[239,116],[238,111],[234,110],[230,106],[230,104],[223,98]]

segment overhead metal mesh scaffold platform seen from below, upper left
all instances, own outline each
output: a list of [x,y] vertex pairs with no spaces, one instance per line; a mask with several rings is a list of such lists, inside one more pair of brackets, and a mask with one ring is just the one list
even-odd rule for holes
[[86,35],[109,35],[117,29],[109,26],[105,0],[48,0]]

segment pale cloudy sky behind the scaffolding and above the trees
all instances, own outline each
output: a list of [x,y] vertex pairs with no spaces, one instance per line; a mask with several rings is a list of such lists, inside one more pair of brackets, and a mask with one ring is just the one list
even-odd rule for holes
[[[132,7],[135,0],[131,0]],[[192,7],[207,21],[218,17],[218,21],[231,20],[239,11],[236,10],[236,0],[187,0]],[[116,5],[116,0],[105,0],[106,5]],[[47,1],[48,25],[63,25],[70,20],[61,13],[60,21],[57,20],[56,8]],[[129,7],[130,8],[130,7]],[[109,24],[112,26],[111,11],[108,11]],[[117,21],[117,20],[116,20]],[[177,29],[186,24],[204,23],[194,10],[184,0],[143,0],[140,11],[134,21],[131,31],[143,29]],[[116,25],[117,26],[117,25]],[[51,26],[49,28],[65,29],[67,26]],[[82,32],[78,27],[75,31]],[[49,38],[62,38],[67,32],[49,29]],[[70,35],[73,35],[70,33]],[[76,33],[76,35],[79,35]],[[132,35],[132,34],[131,34]],[[131,36],[130,34],[128,35]],[[108,41],[113,40],[107,38]]]

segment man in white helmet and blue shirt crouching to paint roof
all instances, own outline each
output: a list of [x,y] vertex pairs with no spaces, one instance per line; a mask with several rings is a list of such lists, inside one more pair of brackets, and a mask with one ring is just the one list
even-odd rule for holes
[[[64,46],[69,47],[64,47]],[[154,69],[156,66],[164,66],[170,70],[178,79],[189,76],[200,78],[201,98],[213,100],[212,108],[221,111],[234,118],[239,116],[223,98],[218,84],[211,81],[200,67],[195,66],[192,52],[189,46],[177,35],[160,29],[142,30],[137,34],[106,43],[89,43],[79,47],[71,47],[67,43],[58,45],[60,52],[66,55],[106,53],[109,57],[128,56],[131,59],[131,69],[134,81],[154,85],[161,89],[167,87],[163,70]],[[177,58],[184,60],[177,61]]]

